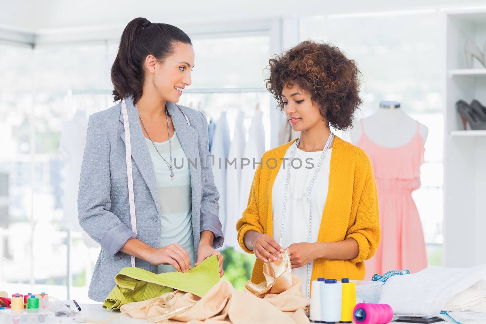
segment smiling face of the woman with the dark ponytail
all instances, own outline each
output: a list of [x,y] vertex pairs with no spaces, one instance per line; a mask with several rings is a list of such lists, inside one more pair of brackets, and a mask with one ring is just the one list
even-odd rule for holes
[[145,82],[151,83],[161,98],[179,102],[183,89],[191,85],[191,68],[194,67],[194,50],[191,44],[177,43],[174,52],[163,63],[153,55],[145,59]]

